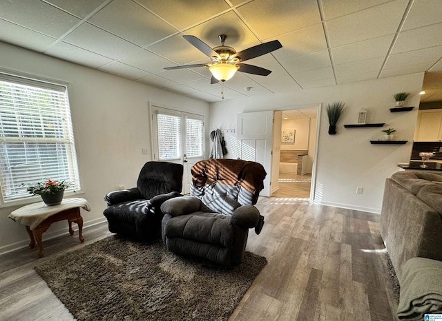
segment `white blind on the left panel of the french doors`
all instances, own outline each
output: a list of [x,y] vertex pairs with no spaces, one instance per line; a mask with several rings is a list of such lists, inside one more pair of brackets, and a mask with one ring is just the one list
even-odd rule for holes
[[160,161],[181,157],[181,116],[157,114],[158,158]]

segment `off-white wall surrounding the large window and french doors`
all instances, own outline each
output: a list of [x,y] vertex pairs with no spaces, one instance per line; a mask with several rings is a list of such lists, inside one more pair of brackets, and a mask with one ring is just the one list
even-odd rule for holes
[[[155,105],[203,114],[209,119],[209,104],[166,92],[142,83],[54,59],[0,42],[0,68],[34,74],[69,83],[68,93],[81,187],[90,203],[82,211],[84,226],[105,220],[103,196],[118,189],[135,187],[138,174],[151,152],[149,101]],[[209,136],[206,127],[206,137]],[[206,142],[207,147],[209,143]],[[206,147],[206,150],[208,148]],[[0,253],[29,242],[25,227],[8,215],[18,207],[0,208]],[[44,239],[68,233],[67,222],[57,222]],[[75,234],[77,236],[77,234]],[[87,232],[84,233],[87,238]],[[37,256],[37,252],[36,252]]]

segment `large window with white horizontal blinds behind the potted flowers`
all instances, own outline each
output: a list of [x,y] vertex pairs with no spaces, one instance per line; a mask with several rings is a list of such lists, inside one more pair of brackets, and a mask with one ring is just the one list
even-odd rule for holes
[[66,86],[0,72],[0,204],[48,178],[80,189]]

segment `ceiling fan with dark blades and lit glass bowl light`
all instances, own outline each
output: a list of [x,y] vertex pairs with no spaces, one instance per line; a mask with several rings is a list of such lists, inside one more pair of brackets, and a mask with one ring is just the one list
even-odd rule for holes
[[278,40],[269,41],[267,43],[260,43],[251,48],[244,49],[240,52],[236,52],[235,49],[224,45],[224,41],[227,39],[227,35],[220,34],[219,38],[221,45],[218,47],[210,48],[203,41],[195,36],[184,35],[184,39],[189,41],[206,56],[209,56],[211,63],[197,63],[195,65],[177,65],[173,67],[166,67],[166,70],[182,69],[182,68],[195,68],[195,67],[209,67],[212,73],[211,83],[218,83],[221,81],[227,81],[233,77],[233,75],[238,72],[246,72],[247,74],[259,74],[261,76],[267,76],[271,73],[271,70],[258,67],[256,65],[248,65],[247,63],[242,63],[242,61],[247,61],[249,59],[262,56],[263,54],[268,54],[273,50],[282,48],[281,43]]

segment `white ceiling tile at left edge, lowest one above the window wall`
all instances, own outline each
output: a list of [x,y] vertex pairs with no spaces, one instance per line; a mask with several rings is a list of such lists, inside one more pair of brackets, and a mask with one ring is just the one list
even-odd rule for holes
[[20,27],[15,23],[1,19],[0,30],[0,41],[12,43],[12,45],[18,45],[37,52],[43,52],[48,48],[48,45],[56,41],[55,38],[45,36],[39,32]]

